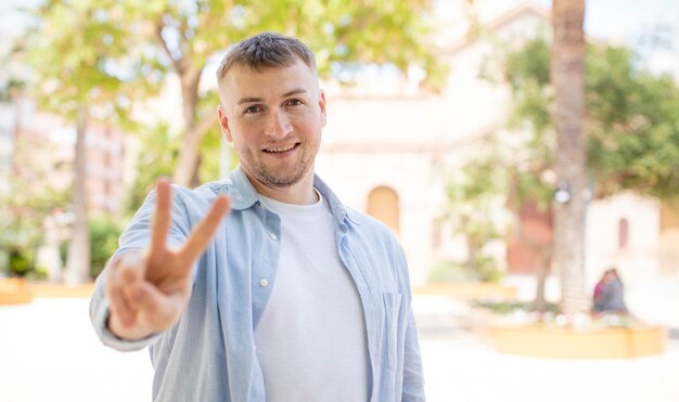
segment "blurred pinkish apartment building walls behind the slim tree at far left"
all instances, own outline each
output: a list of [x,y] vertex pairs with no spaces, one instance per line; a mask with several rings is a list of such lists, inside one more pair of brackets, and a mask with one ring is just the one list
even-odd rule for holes
[[[36,185],[68,190],[73,184],[75,139],[73,125],[59,116],[37,112],[29,99],[12,105],[16,114],[13,128],[17,146],[12,150],[12,169]],[[123,211],[125,134],[91,121],[86,138],[87,205],[91,215],[119,217]],[[22,150],[18,150],[18,148]],[[40,174],[36,174],[40,171]],[[31,181],[31,177],[40,177]],[[52,278],[60,277],[63,261],[59,247],[71,237],[73,215],[65,205],[54,205],[53,215],[43,222],[44,243],[37,250],[38,265]]]

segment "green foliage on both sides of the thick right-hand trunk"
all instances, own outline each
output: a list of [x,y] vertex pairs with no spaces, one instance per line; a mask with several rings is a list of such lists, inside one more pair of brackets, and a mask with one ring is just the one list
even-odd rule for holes
[[[505,79],[514,98],[514,126],[528,125],[527,146],[550,166],[553,128],[549,42],[528,41],[505,57]],[[679,186],[679,88],[654,75],[627,48],[588,46],[586,65],[588,163],[598,196],[631,190],[669,198]]]

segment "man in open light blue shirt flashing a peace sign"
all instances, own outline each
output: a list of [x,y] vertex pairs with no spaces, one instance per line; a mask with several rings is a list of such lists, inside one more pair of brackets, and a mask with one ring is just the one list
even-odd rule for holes
[[313,173],[313,53],[261,34],[217,78],[241,166],[174,194],[158,181],[97,282],[98,335],[150,348],[155,401],[423,401],[402,250]]

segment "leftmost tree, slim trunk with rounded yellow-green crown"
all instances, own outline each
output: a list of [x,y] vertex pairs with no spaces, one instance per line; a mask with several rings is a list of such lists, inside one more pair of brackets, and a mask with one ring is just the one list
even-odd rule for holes
[[[50,0],[35,11],[35,26],[20,43],[30,66],[33,98],[43,111],[76,125],[74,189],[75,216],[68,247],[66,280],[88,278],[89,233],[86,194],[86,135],[92,119],[123,121],[133,100],[124,82],[143,67],[134,57],[134,30],[114,0]],[[137,93],[150,88],[138,80]]]

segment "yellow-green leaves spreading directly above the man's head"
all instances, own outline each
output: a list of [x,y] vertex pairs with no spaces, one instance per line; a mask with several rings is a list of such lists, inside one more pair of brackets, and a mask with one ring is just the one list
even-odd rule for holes
[[423,40],[431,26],[428,0],[204,0],[184,7],[169,0],[124,3],[130,22],[149,22],[156,29],[146,33],[155,35],[159,29],[166,35],[175,61],[185,57],[198,68],[216,52],[266,30],[308,43],[317,52],[322,75],[330,74],[333,65],[392,63],[405,70],[413,63],[433,64]]

